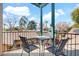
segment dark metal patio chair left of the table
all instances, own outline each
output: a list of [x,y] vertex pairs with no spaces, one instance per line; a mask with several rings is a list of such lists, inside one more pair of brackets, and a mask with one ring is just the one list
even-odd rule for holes
[[23,50],[25,52],[29,53],[29,56],[30,56],[30,52],[37,49],[38,47],[33,45],[33,44],[29,44],[26,37],[22,37],[22,36],[19,36],[19,37],[20,37],[20,39],[22,41],[22,53],[21,53],[21,56],[23,54]]

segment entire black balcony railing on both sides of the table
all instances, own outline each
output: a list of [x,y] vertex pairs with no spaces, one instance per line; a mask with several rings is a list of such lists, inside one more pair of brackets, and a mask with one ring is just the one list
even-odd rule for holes
[[[20,48],[19,35],[34,37],[39,35],[38,32],[35,31],[27,31],[27,32],[3,32],[3,48],[2,52],[12,51]],[[64,52],[69,56],[77,56],[79,55],[79,34],[74,33],[57,33],[60,36],[60,39],[69,37],[71,38],[64,47]],[[16,41],[16,47],[14,47],[14,41]],[[29,41],[31,42],[31,41]],[[32,43],[36,44],[37,41],[32,40]],[[50,43],[50,42],[49,42]],[[16,52],[15,52],[16,53]],[[45,52],[44,52],[45,53]]]

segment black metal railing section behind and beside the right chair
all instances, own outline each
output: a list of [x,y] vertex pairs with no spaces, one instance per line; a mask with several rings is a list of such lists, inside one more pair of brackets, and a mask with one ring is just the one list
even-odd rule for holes
[[69,56],[79,56],[79,34],[75,33],[57,33],[60,35],[60,39],[69,37],[64,52]]

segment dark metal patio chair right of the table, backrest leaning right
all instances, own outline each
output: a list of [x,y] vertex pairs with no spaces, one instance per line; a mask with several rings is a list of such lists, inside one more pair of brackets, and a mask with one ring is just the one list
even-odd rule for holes
[[51,52],[52,54],[54,54],[55,56],[59,56],[59,55],[66,56],[63,52],[63,49],[64,49],[66,43],[68,42],[68,40],[69,40],[69,38],[63,39],[63,40],[61,40],[59,47],[51,46],[51,47],[48,47],[47,50],[49,52]]

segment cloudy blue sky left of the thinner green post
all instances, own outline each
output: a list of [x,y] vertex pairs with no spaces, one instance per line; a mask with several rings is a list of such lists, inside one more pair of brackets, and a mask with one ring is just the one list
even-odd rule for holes
[[[37,13],[38,16],[35,13]],[[3,4],[4,23],[6,23],[5,20],[8,19],[7,16],[10,16],[10,15],[13,15],[13,17],[16,16],[17,21],[19,21],[19,17],[21,17],[21,16],[26,16],[27,18],[30,18],[32,20],[34,20],[35,18],[39,19],[39,9],[37,7],[32,6],[31,4],[24,4],[24,3],[18,3],[18,4],[17,3],[5,3],[5,4]],[[18,22],[17,22],[17,25],[18,25]]]

